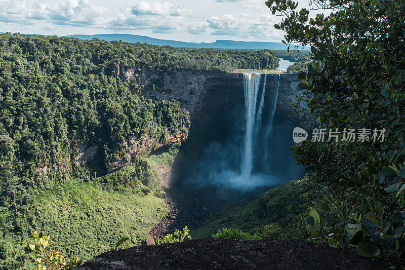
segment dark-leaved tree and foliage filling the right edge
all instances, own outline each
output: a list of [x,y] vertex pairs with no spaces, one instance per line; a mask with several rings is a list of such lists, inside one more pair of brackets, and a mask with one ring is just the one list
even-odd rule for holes
[[[330,190],[310,209],[315,239],[405,265],[404,0],[266,2],[286,44],[311,46],[300,89],[321,128],[386,130],[384,141],[297,144],[295,156]],[[314,11],[327,11],[329,15]],[[346,198],[346,199],[345,199]]]

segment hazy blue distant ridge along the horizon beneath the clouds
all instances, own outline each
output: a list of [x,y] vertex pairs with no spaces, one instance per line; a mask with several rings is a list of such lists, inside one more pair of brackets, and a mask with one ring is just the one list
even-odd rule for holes
[[80,40],[92,40],[93,38],[99,38],[106,41],[123,41],[132,43],[147,43],[151,45],[159,46],[172,46],[172,47],[185,47],[185,48],[217,48],[217,49],[251,49],[251,50],[287,50],[287,46],[278,42],[245,42],[245,41],[227,41],[218,40],[213,43],[195,43],[195,42],[181,42],[171,40],[159,40],[158,38],[152,38],[143,35],[134,34],[75,34],[67,35],[69,37],[76,37]]

